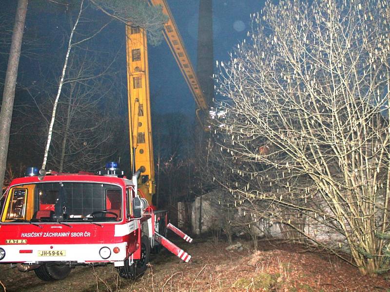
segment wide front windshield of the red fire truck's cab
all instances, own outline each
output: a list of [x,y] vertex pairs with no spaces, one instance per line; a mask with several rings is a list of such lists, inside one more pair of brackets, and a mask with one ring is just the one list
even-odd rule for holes
[[105,183],[33,183],[10,188],[1,222],[119,221],[122,189]]

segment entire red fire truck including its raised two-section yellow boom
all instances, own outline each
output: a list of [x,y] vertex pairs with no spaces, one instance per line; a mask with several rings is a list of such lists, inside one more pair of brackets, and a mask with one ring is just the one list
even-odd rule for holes
[[[207,114],[207,100],[168,5],[165,0],[151,2],[168,16],[164,37],[199,110]],[[118,175],[116,163],[108,164],[104,175],[29,168],[5,192],[0,264],[34,270],[42,280],[59,280],[76,265],[101,263],[113,263],[121,277],[135,278],[145,272],[151,249],[161,246],[190,260],[165,233],[171,229],[188,242],[192,238],[167,224],[166,211],[152,206],[156,184],[144,29],[126,26],[126,49],[132,179]]]

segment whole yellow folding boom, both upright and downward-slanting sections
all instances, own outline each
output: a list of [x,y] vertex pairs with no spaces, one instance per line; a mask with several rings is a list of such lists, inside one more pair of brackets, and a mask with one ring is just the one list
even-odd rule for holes
[[[168,16],[163,30],[165,40],[195,98],[198,109],[207,112],[209,109],[207,99],[200,87],[166,0],[149,0],[149,2],[151,5],[161,5],[162,12]],[[148,47],[144,29],[131,25],[126,26],[126,52],[130,153],[133,169],[141,168],[144,170],[140,176],[138,188],[141,195],[152,206],[156,183],[149,95]]]

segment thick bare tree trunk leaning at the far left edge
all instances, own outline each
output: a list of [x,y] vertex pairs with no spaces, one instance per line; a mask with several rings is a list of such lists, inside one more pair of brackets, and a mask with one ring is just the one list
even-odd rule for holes
[[12,110],[14,107],[16,78],[20,59],[21,41],[23,38],[24,21],[26,19],[28,0],[19,0],[16,10],[14,30],[12,32],[8,67],[5,75],[3,100],[0,112],[0,183],[4,183],[5,168],[11,128]]

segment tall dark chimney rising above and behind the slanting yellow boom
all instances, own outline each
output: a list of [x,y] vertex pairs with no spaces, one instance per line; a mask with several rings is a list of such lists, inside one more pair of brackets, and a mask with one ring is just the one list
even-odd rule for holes
[[196,75],[209,106],[214,99],[213,0],[200,0]]

